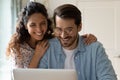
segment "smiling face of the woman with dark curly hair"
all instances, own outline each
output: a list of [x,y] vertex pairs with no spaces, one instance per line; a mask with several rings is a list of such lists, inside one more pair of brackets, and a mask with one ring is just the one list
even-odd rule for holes
[[26,29],[32,41],[42,40],[47,31],[47,19],[41,13],[32,14],[27,22]]

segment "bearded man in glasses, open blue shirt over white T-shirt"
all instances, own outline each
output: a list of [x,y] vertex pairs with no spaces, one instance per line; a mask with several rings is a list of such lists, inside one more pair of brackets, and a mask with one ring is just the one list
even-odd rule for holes
[[100,42],[85,45],[81,31],[81,12],[71,4],[54,11],[55,36],[41,59],[40,68],[75,69],[78,80],[117,80]]

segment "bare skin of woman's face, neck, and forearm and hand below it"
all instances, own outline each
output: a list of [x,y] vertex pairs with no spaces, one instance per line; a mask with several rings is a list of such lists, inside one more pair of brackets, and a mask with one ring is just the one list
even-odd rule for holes
[[[34,13],[29,17],[26,29],[30,34],[28,44],[35,49],[29,68],[37,68],[39,60],[48,48],[48,41],[43,40],[47,31],[47,19],[41,13]],[[43,41],[42,41],[43,40]]]

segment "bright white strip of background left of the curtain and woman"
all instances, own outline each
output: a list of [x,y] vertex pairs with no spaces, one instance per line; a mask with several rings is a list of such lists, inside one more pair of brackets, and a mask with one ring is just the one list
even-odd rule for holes
[[5,49],[11,36],[11,0],[0,0],[0,80],[10,80]]

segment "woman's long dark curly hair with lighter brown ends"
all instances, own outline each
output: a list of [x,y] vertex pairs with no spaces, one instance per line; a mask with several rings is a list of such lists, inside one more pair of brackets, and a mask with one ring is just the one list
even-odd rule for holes
[[16,25],[16,32],[13,34],[6,50],[7,55],[10,55],[11,50],[19,51],[20,44],[30,40],[30,34],[25,28],[25,25],[27,24],[29,17],[34,13],[41,13],[47,19],[48,28],[44,39],[50,39],[53,37],[52,22],[48,19],[48,13],[45,6],[38,2],[29,2],[20,12]]

